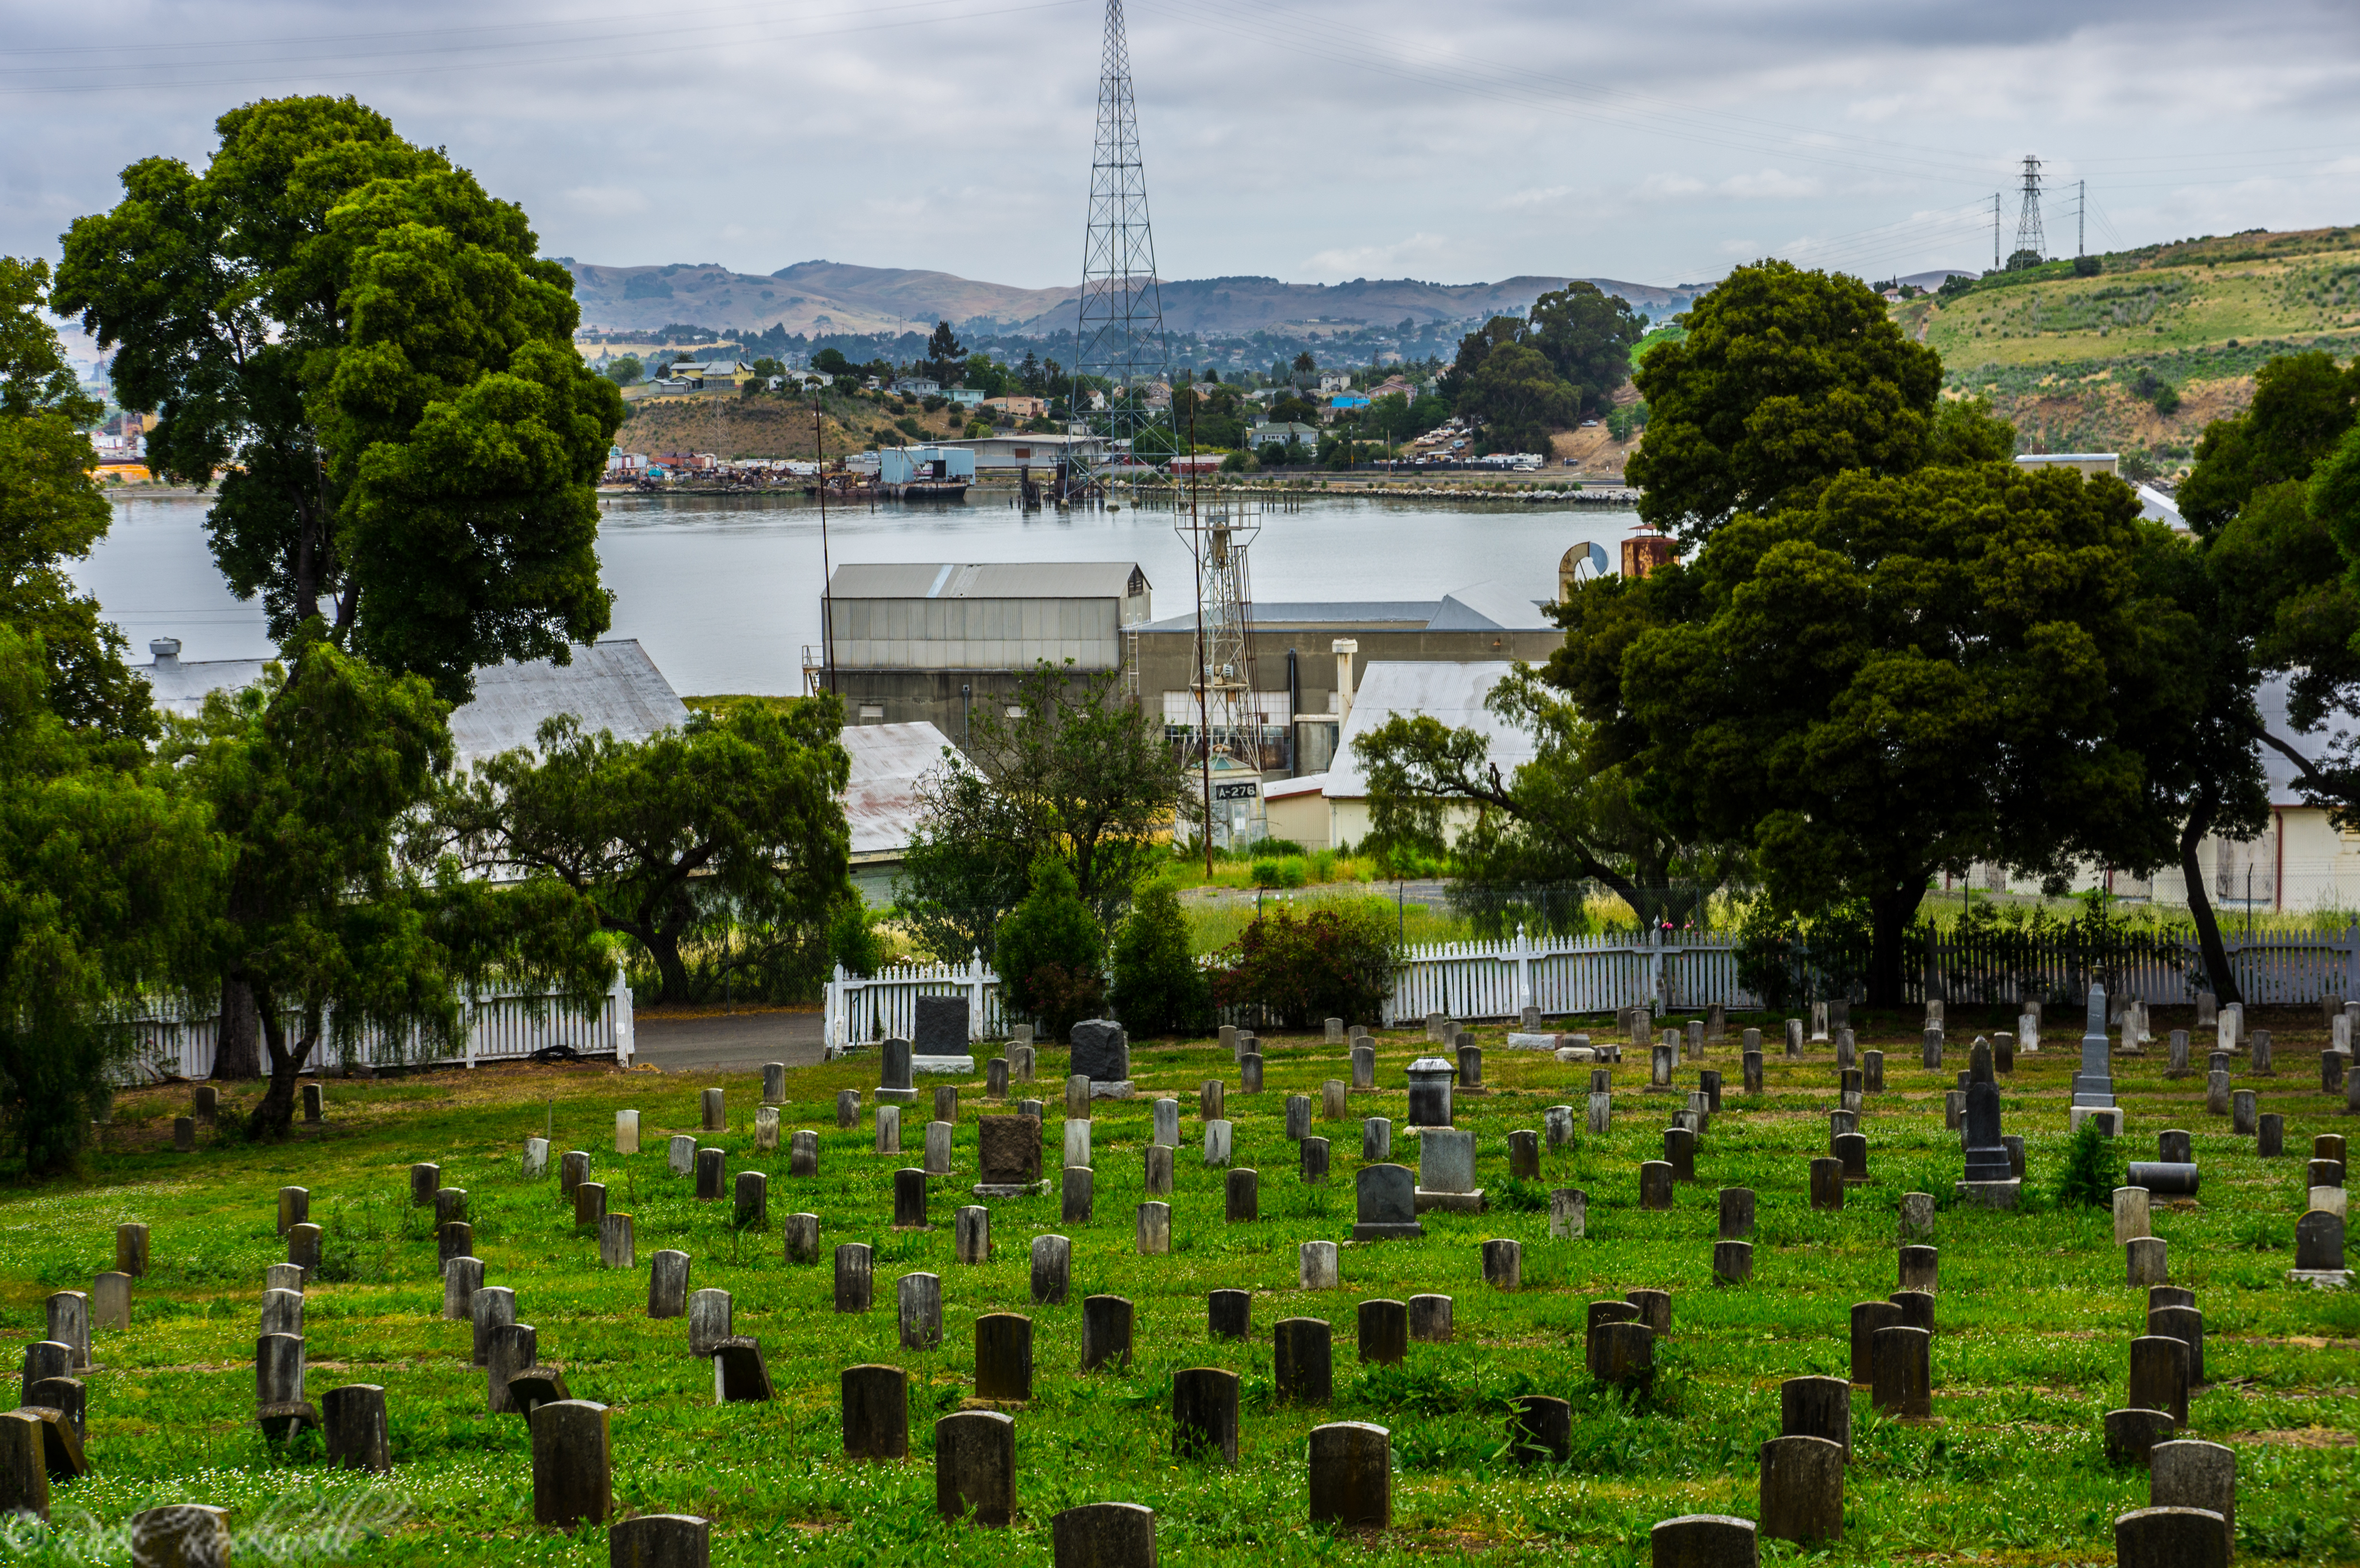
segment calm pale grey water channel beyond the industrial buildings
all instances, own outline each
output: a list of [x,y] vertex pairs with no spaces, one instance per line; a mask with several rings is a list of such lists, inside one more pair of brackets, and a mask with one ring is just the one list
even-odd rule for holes
[[[1171,512],[1034,512],[998,496],[968,505],[828,508],[843,562],[1123,560],[1147,569],[1156,614],[1192,602],[1189,555]],[[1558,557],[1617,541],[1631,512],[1433,501],[1305,501],[1272,512],[1251,550],[1258,600],[1433,600],[1484,581],[1553,597]],[[800,496],[609,496],[599,567],[616,638],[640,638],[682,694],[795,692],[802,645],[819,642],[819,508]],[[271,652],[262,607],[222,586],[205,545],[205,501],[118,501],[109,538],[76,579],[94,593],[132,659],[179,638],[182,659]]]

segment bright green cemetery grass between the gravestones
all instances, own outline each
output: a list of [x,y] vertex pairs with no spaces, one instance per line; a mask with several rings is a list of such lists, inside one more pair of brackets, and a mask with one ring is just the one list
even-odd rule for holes
[[[1808,1209],[1808,1162],[1827,1152],[1836,1105],[1829,1046],[1801,1063],[1777,1053],[1779,1023],[1732,1020],[1706,1067],[1739,1082],[1737,1030],[1770,1039],[1768,1093],[1725,1093],[1697,1145],[1697,1176],[1676,1209],[1638,1209],[1638,1164],[1661,1157],[1661,1129],[1680,1096],[1650,1096],[1645,1051],[1614,1070],[1614,1131],[1576,1133],[1543,1152],[1541,1183],[1510,1188],[1508,1133],[1541,1129],[1548,1105],[1581,1105],[1588,1067],[1508,1051],[1477,1030],[1489,1093],[1461,1096],[1456,1122],[1477,1131],[1477,1171],[1492,1209],[1428,1214],[1425,1240],[1350,1244],[1359,1117],[1407,1115],[1404,1067],[1425,1056],[1423,1032],[1378,1037],[1378,1089],[1355,1093],[1348,1122],[1319,1122],[1322,1079],[1350,1079],[1345,1048],[1315,1037],[1267,1037],[1267,1089],[1239,1093],[1237,1067],[1213,1044],[1133,1044],[1140,1098],[1097,1103],[1095,1221],[1060,1226],[1057,1197],[989,1200],[994,1256],[951,1261],[951,1214],[975,1181],[975,1115],[989,1110],[977,1074],[961,1084],[956,1174],[932,1188],[932,1228],[894,1233],[892,1171],[920,1164],[927,1089],[904,1112],[904,1155],[873,1152],[871,1089],[878,1053],[788,1074],[781,1148],[755,1152],[760,1074],[614,1072],[611,1067],[446,1070],[401,1079],[328,1079],[328,1122],[283,1145],[229,1133],[231,1110],[255,1086],[224,1093],[222,1129],[201,1129],[198,1152],[172,1152],[172,1117],[186,1086],[125,1093],[76,1183],[0,1193],[0,1280],[19,1341],[40,1339],[42,1299],[90,1289],[113,1266],[113,1228],[153,1228],[149,1275],[135,1285],[130,1332],[99,1332],[90,1374],[92,1474],[52,1490],[64,1533],[31,1561],[90,1561],[87,1525],[120,1525],[160,1502],[231,1509],[241,1561],[257,1561],[267,1530],[302,1533],[323,1518],[375,1523],[345,1556],[361,1563],[581,1563],[607,1561],[604,1528],[536,1530],[531,1443],[519,1417],[484,1415],[484,1374],[470,1365],[470,1327],[444,1322],[432,1214],[408,1207],[411,1162],[439,1162],[446,1185],[470,1193],[477,1254],[489,1285],[517,1292],[517,1318],[538,1327],[540,1358],[564,1365],[576,1398],[611,1405],[618,1511],[713,1518],[720,1563],[1048,1563],[1055,1511],[1081,1502],[1142,1502],[1156,1511],[1166,1563],[1381,1563],[1477,1561],[1645,1563],[1647,1528],[1676,1514],[1756,1516],[1756,1445],[1777,1436],[1779,1379],[1848,1372],[1848,1313],[1897,1287],[1897,1202],[1933,1193],[1940,1247],[1933,1419],[1902,1424],[1853,1396],[1855,1462],[1846,1481],[1846,1535],[1812,1554],[1836,1563],[2112,1563],[2112,1518],[2148,1504],[2143,1469],[2110,1469],[2100,1417],[2124,1403],[2129,1341],[2143,1332],[2145,1292],[2124,1285],[2124,1252],[2103,1209],[2056,1209],[2065,1103],[2077,1039],[2056,1027],[2039,1056],[2018,1056],[2001,1079],[2004,1131],[2027,1141],[2025,1204],[1997,1214],[1952,1204],[1959,1136],[1942,1126],[1942,1091],[1966,1065],[1975,1030],[2006,1027],[1997,1011],[1952,1018],[1947,1072],[1919,1065],[1916,1018],[1860,1020],[1862,1046],[1886,1048],[1886,1093],[1862,1115],[1869,1174],[1843,1211]],[[1867,1027],[1862,1027],[1867,1025]],[[2157,1013],[2155,1030],[2185,1027]],[[2155,1157],[2166,1126],[2195,1133],[2197,1200],[2157,1200],[2155,1233],[2169,1242],[2171,1280],[2197,1292],[2211,1386],[2195,1396],[2190,1436],[2237,1452],[2242,1561],[2360,1561],[2360,1292],[2289,1285],[2294,1221],[2306,1204],[2303,1162],[2320,1131],[2360,1131],[2341,1096],[2318,1089],[2325,1030],[2318,1013],[2263,1015],[2277,1077],[2237,1079],[2261,1110],[2287,1117],[2287,1155],[2261,1159],[2228,1117],[2204,1115],[2197,1074],[2164,1079],[2162,1041],[2117,1058],[2126,1108],[2124,1155]],[[1605,1027],[1598,1030],[1605,1037]],[[977,1067],[991,1048],[977,1048]],[[1064,1051],[1043,1048],[1043,1167],[1057,1164]],[[1694,1086],[1697,1067],[1678,1082]],[[1258,1223],[1222,1221],[1222,1174],[1201,1162],[1197,1089],[1230,1086],[1237,1164],[1263,1174]],[[732,1233],[732,1204],[694,1202],[694,1183],[668,1174],[666,1136],[696,1131],[699,1091],[727,1091],[729,1131],[696,1133],[729,1152],[732,1176],[769,1171],[769,1228]],[[861,1091],[861,1126],[838,1131],[838,1089]],[[1017,1093],[1024,1093],[1020,1086]],[[1182,1103],[1175,1159],[1173,1252],[1135,1256],[1149,1100]],[[1333,1143],[1322,1188],[1296,1178],[1284,1136],[1286,1093],[1312,1096],[1312,1131]],[[642,1112],[640,1155],[614,1155],[614,1112]],[[819,1129],[819,1176],[786,1176],[786,1133]],[[524,1178],[526,1136],[550,1131],[548,1176]],[[637,1268],[602,1270],[597,1237],[576,1235],[557,1202],[557,1155],[592,1152],[609,1209],[637,1223]],[[1395,1159],[1416,1145],[1395,1136]],[[255,1334],[264,1266],[283,1261],[274,1226],[281,1185],[312,1193],[326,1230],[323,1266],[307,1294],[307,1398],[345,1381],[382,1384],[396,1469],[389,1478],[328,1471],[309,1438],[271,1450],[255,1426]],[[1551,1240],[1546,1193],[1586,1188],[1588,1235]],[[1716,1188],[1758,1193],[1753,1280],[1716,1287]],[[821,1216],[821,1263],[788,1266],[779,1221]],[[1064,1306],[1031,1306],[1029,1244],[1043,1233],[1074,1242]],[[1484,1237],[1517,1237],[1525,1289],[1487,1289]],[[876,1308],[831,1311],[828,1256],[838,1242],[876,1247]],[[1296,1289],[1296,1247],[1345,1242],[1343,1287]],[[649,1259],[694,1256],[691,1289],[734,1292],[739,1334],[755,1334],[776,1384],[762,1405],[713,1403],[713,1374],[687,1353],[687,1320],[647,1318]],[[942,1275],[944,1344],[902,1351],[894,1278]],[[1206,1337],[1206,1292],[1253,1292],[1253,1339]],[[1584,1304],[1633,1287],[1671,1289],[1671,1334],[1657,1348],[1654,1391],[1626,1403],[1584,1372]],[[1138,1304],[1128,1372],[1081,1374],[1081,1299],[1114,1292]],[[1399,1367],[1362,1367],[1355,1304],[1442,1292],[1456,1299],[1456,1344],[1411,1344]],[[1029,1313],[1034,1400],[1017,1417],[1017,1507],[1005,1533],[935,1516],[932,1422],[972,1389],[975,1318]],[[1272,1400],[1270,1329],[1291,1315],[1333,1325],[1336,1400],[1300,1410]],[[911,1374],[911,1457],[852,1464],[840,1457],[838,1372],[892,1363]],[[1241,1459],[1234,1471],[1171,1455],[1171,1374],[1218,1365],[1244,1377]],[[1572,1400],[1572,1462],[1515,1466],[1503,1455],[1503,1403],[1515,1393]],[[1326,1419],[1376,1422],[1392,1433],[1392,1528],[1315,1530],[1305,1507],[1305,1433]],[[73,1525],[80,1523],[80,1530]],[[1801,1559],[1765,1542],[1765,1561]],[[120,1542],[111,1561],[123,1561]]]

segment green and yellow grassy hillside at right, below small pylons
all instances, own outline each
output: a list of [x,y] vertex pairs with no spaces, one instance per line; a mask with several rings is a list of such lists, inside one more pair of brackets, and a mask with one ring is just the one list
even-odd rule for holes
[[[2233,234],[1992,276],[1893,307],[2027,451],[2150,451],[2176,465],[2240,411],[2254,371],[2296,349],[2360,349],[2360,227]],[[2176,406],[2174,406],[2176,404]]]

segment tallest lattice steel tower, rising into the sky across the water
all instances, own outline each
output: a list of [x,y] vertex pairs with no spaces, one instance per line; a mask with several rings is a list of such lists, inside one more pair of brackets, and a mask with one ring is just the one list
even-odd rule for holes
[[[1081,246],[1081,321],[1074,375],[1114,383],[1109,411],[1093,427],[1126,449],[1161,411],[1140,404],[1147,383],[1171,385],[1163,295],[1156,290],[1156,236],[1147,224],[1147,170],[1140,165],[1140,111],[1130,97],[1130,43],[1123,0],[1107,0],[1107,47],[1097,71],[1097,144],[1090,153],[1090,229]],[[1130,392],[1133,397],[1121,397]],[[1076,397],[1074,418],[1088,399]]]

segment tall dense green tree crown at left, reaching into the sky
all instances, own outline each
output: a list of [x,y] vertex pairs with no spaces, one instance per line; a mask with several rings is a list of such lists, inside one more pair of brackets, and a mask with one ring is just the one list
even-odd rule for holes
[[623,418],[573,352],[571,274],[522,208],[354,99],[245,104],[205,172],[123,170],[66,234],[54,307],[212,479],[212,553],[286,645],[312,616],[465,701],[609,623],[597,498]]

